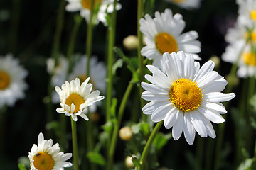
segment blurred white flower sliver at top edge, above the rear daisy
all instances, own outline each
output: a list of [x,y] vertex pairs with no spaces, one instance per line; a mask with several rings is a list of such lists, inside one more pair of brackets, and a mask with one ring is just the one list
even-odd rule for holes
[[201,6],[201,0],[166,0],[167,2],[171,2],[176,4],[180,8],[193,9],[199,8]]

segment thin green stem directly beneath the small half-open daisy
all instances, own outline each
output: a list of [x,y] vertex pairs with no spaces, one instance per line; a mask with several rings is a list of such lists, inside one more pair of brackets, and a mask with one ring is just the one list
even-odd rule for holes
[[78,170],[78,139],[77,139],[77,130],[76,130],[76,122],[71,119],[71,128],[72,128],[72,142],[73,142],[73,158],[74,158],[74,169]]

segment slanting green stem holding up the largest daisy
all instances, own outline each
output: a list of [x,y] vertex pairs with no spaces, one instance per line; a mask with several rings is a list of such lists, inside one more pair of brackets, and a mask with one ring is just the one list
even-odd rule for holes
[[161,128],[161,125],[163,125],[163,123],[164,123],[164,120],[157,123],[153,132],[151,132],[149,140],[146,142],[146,146],[144,147],[144,150],[142,152],[142,157],[139,159],[139,164],[141,165],[141,167],[139,167],[138,170],[143,169],[143,166],[146,163],[146,157],[149,154],[149,149],[154,141],[154,138],[156,137],[157,132],[159,132],[159,129]]

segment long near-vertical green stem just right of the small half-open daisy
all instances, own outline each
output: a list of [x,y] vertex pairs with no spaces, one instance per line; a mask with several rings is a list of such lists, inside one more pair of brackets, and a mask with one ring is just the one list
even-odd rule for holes
[[109,31],[109,41],[107,48],[107,96],[106,96],[106,118],[107,121],[110,120],[110,107],[112,101],[112,86],[113,86],[113,75],[112,75],[112,66],[114,60],[114,41],[115,41],[115,32],[116,32],[116,19],[117,19],[117,10],[116,10],[117,0],[114,0],[114,11],[111,15],[112,19],[110,22],[110,26],[108,28]]

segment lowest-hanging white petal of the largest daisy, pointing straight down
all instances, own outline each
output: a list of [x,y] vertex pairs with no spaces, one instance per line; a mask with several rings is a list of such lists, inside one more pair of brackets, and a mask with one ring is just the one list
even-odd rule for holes
[[186,141],[189,145],[192,145],[193,141],[195,140],[196,130],[193,128],[190,116],[188,114],[184,114],[183,131]]

